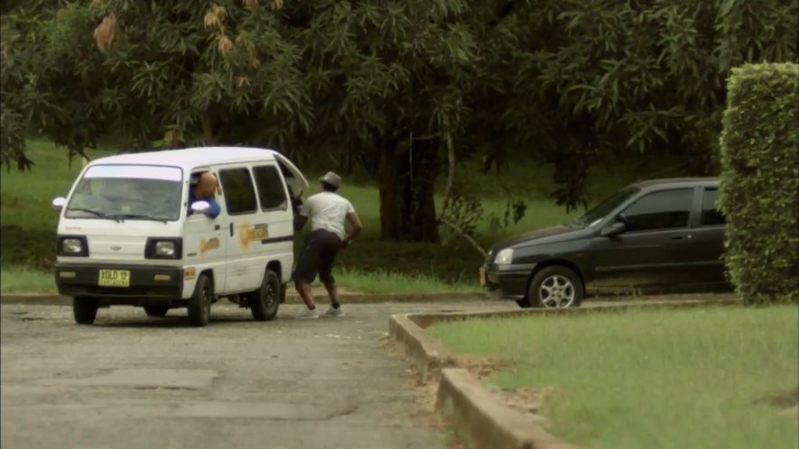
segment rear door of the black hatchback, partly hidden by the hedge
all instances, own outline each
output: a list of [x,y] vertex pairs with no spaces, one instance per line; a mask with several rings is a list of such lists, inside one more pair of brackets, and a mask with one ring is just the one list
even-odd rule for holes
[[692,230],[692,282],[722,283],[726,281],[724,256],[724,226],[726,218],[718,205],[719,188],[700,189],[698,209]]

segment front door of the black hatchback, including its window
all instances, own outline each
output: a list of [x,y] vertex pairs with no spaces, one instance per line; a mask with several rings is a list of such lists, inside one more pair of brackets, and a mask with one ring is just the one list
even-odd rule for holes
[[[685,244],[692,240],[694,188],[670,188],[643,194],[614,221],[622,234],[597,235],[590,243],[595,282],[643,286],[679,281],[690,270]],[[613,223],[613,222],[611,222]]]

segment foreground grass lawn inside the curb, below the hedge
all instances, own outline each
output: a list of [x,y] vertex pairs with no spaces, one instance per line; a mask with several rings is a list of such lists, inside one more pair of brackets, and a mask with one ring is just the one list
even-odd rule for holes
[[489,383],[552,388],[544,414],[554,435],[573,443],[799,445],[795,414],[779,414],[790,406],[759,400],[799,383],[794,306],[471,320],[429,332],[456,353],[510,362]]

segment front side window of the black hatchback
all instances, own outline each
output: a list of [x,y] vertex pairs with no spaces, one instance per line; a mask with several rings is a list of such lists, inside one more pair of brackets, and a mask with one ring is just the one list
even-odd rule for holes
[[627,225],[627,232],[687,227],[692,202],[692,188],[664,190],[637,200],[619,218]]

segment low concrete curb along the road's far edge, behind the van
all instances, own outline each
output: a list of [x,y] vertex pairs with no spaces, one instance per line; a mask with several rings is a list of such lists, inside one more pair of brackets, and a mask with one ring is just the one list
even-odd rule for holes
[[[327,296],[314,295],[317,300],[325,303]],[[382,303],[411,303],[411,302],[459,302],[459,301],[484,301],[485,295],[472,293],[427,293],[427,294],[342,294],[339,300],[343,304],[382,304]],[[0,304],[3,305],[29,305],[29,306],[71,306],[72,298],[55,294],[3,294],[0,295]],[[297,295],[286,295],[285,304],[302,304],[302,299]]]

